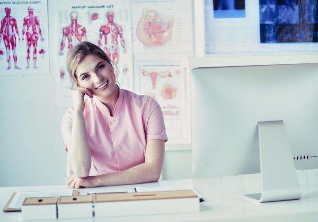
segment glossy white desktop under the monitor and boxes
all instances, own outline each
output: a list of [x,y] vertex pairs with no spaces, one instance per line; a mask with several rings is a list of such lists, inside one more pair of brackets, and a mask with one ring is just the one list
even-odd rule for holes
[[[130,217],[104,217],[60,219],[53,221],[318,221],[318,170],[297,172],[302,197],[300,200],[257,203],[243,194],[259,193],[260,174],[225,176],[201,179],[163,180],[129,186],[80,189],[89,192],[130,191],[134,187],[192,186],[205,199],[200,212],[183,214],[157,214]],[[6,187],[0,188],[0,206],[3,208],[16,191],[48,191],[68,189],[67,186]],[[21,221],[21,212],[1,212],[0,221]],[[52,221],[52,220],[45,220]]]

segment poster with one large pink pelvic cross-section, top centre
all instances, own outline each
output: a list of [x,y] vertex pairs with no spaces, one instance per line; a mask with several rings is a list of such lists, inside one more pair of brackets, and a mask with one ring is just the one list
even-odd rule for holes
[[[191,52],[192,1],[132,1],[134,53]],[[181,7],[182,6],[182,7]]]

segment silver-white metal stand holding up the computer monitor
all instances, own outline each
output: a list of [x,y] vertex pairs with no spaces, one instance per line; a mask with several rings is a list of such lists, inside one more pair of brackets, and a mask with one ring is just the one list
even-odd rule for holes
[[300,187],[282,121],[259,122],[262,193],[245,197],[260,203],[300,199]]

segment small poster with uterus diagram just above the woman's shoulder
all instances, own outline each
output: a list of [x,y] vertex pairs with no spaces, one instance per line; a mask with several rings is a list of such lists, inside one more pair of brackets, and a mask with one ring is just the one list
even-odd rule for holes
[[140,92],[154,98],[165,119],[181,118],[182,78],[180,65],[143,64],[140,66]]

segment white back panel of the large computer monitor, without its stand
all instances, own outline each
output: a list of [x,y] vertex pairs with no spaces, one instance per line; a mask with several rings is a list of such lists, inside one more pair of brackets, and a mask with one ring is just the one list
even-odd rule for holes
[[318,63],[194,68],[194,177],[260,172],[258,122],[282,120],[296,170],[318,168]]

